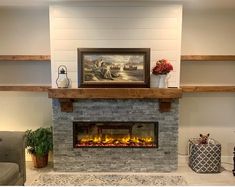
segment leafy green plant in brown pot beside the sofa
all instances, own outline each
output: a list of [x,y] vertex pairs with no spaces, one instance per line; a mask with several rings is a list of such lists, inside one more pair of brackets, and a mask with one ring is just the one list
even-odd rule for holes
[[26,131],[26,148],[31,154],[34,167],[42,168],[48,164],[48,153],[53,149],[52,128],[38,128]]

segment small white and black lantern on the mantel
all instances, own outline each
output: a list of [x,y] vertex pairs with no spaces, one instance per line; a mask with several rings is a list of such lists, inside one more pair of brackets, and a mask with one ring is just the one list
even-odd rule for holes
[[56,84],[58,88],[68,88],[69,87],[69,79],[67,77],[67,67],[65,65],[61,65],[58,67],[58,77],[56,79]]

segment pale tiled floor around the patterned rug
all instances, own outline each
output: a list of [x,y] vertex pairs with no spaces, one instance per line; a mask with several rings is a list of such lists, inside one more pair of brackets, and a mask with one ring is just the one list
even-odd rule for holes
[[[223,171],[218,174],[198,174],[192,171],[186,161],[179,161],[178,170],[176,172],[169,173],[169,175],[181,175],[185,178],[188,185],[233,185],[235,186],[235,177],[232,174],[232,164],[222,163]],[[32,162],[27,162],[27,181],[25,185],[30,185],[40,173],[53,173],[52,164],[43,169],[33,168]],[[149,175],[151,173],[145,173]],[[159,175],[161,173],[158,173]],[[166,173],[164,173],[165,175]]]

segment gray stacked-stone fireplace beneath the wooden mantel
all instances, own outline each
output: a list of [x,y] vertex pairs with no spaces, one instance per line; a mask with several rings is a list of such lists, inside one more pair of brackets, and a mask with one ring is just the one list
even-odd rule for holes
[[[73,102],[72,112],[62,112],[59,100],[53,99],[54,169],[69,172],[175,171],[178,102],[178,99],[172,100],[171,110],[160,112],[158,99],[80,99]],[[151,132],[148,136],[155,139],[153,145],[76,146],[87,134],[134,137],[139,135],[135,129]]]

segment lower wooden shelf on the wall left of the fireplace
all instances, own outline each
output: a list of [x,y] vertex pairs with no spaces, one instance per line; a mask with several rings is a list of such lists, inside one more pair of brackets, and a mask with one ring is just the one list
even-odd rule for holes
[[14,86],[0,86],[0,91],[48,92],[49,88],[51,88],[51,86],[14,85]]

